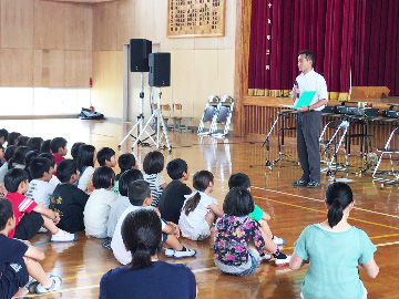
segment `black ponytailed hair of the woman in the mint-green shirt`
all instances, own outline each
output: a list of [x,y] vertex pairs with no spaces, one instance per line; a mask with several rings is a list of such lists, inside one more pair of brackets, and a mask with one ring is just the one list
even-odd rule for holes
[[345,183],[334,183],[328,186],[325,196],[328,205],[328,225],[335,227],[344,216],[344,209],[354,202],[354,194],[349,185]]

